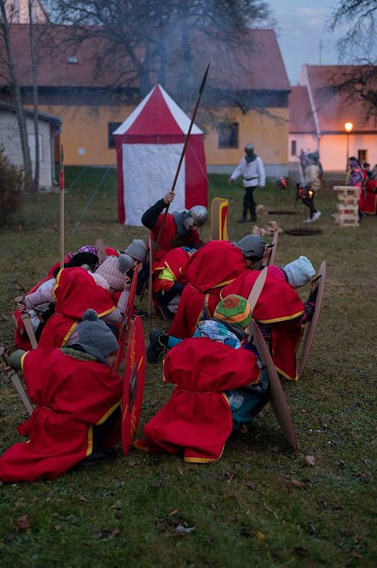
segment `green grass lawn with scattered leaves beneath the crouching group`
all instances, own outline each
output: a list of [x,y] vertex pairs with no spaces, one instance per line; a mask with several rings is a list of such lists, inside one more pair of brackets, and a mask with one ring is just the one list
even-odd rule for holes
[[[80,175],[77,178],[77,175]],[[67,168],[66,251],[101,236],[119,248],[143,228],[116,222],[116,172]],[[79,227],[81,211],[102,179]],[[230,197],[230,239],[251,232],[239,225],[242,188],[210,176],[211,191]],[[166,189],[166,188],[164,188]],[[164,190],[162,191],[162,193]],[[257,202],[276,209],[273,185]],[[13,341],[13,299],[58,259],[58,195],[26,197],[12,229],[0,232],[1,344]],[[293,190],[284,209],[293,208]],[[372,567],[373,398],[376,381],[377,218],[358,228],[334,225],[334,195],[322,190],[317,236],[279,237],[277,263],[305,254],[328,279],[315,346],[305,376],[284,388],[298,436],[288,447],[269,407],[246,435],[228,443],[220,461],[184,464],[180,457],[133,449],[115,461],[74,469],[56,481],[0,487],[0,566],[4,568],[118,567]],[[265,216],[284,229],[295,215]],[[203,230],[208,238],[209,228]],[[226,259],[224,259],[226,261]],[[303,290],[305,299],[308,290]],[[142,305],[142,307],[145,306]],[[143,320],[165,327],[162,320]],[[143,425],[169,398],[162,368],[147,366]],[[0,382],[0,451],[19,440],[23,406],[13,387]],[[305,465],[305,456],[315,465]],[[298,483],[298,481],[300,483]],[[17,520],[27,515],[28,528]],[[180,536],[176,526],[191,532]],[[18,523],[19,524],[19,523]],[[374,528],[376,525],[374,525]]]

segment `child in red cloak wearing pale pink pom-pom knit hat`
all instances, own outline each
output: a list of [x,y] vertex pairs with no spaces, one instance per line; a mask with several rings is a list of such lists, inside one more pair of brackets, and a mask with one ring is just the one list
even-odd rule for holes
[[[75,329],[80,315],[93,307],[110,324],[120,324],[128,302],[128,284],[125,285],[125,273],[133,267],[128,255],[119,258],[108,257],[96,273],[91,274],[82,268],[64,268],[57,275],[54,288],[25,297],[25,306],[30,309],[34,302],[55,301],[55,314],[45,324],[38,346],[40,349],[64,347],[76,342]],[[99,284],[96,283],[99,280]],[[112,294],[120,294],[118,305],[114,305]]]

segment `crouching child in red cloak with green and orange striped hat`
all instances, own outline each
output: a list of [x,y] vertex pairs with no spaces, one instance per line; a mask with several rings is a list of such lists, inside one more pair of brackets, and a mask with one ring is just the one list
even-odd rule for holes
[[268,400],[268,377],[244,329],[249,302],[237,295],[221,300],[215,317],[198,324],[191,339],[164,359],[164,382],[175,385],[170,400],[143,428],[135,447],[184,452],[184,460],[215,461],[232,430],[252,420]]

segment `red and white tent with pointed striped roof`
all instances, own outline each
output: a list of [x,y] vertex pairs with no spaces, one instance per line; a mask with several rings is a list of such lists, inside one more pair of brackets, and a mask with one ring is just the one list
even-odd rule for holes
[[[114,131],[118,163],[118,219],[140,226],[148,207],[174,180],[190,119],[157,84]],[[208,205],[203,132],[193,125],[170,212]]]

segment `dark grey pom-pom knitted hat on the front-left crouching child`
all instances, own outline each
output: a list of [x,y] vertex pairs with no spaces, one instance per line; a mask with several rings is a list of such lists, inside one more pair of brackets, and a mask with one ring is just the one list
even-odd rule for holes
[[86,310],[81,320],[77,326],[79,344],[86,353],[93,355],[101,363],[106,363],[105,357],[119,349],[116,336],[105,322],[99,320],[95,310]]

